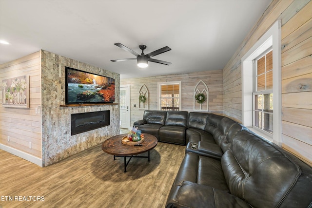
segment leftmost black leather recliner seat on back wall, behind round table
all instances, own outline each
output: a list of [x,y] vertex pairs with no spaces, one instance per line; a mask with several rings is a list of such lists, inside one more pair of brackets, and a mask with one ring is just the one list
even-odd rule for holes
[[145,110],[143,119],[134,122],[134,127],[138,127],[143,133],[154,135],[159,141],[158,130],[165,125],[166,115],[166,111]]

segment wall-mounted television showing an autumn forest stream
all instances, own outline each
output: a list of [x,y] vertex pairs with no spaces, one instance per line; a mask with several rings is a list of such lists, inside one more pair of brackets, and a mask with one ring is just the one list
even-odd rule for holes
[[65,67],[65,103],[113,103],[115,79]]

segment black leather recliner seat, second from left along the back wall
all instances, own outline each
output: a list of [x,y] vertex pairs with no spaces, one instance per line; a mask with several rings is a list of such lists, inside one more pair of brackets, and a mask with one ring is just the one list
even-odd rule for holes
[[159,141],[185,145],[187,122],[187,111],[167,111],[165,125],[158,132]]

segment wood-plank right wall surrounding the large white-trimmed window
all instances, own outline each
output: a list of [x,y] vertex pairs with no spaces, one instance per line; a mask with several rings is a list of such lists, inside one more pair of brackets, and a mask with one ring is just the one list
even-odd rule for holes
[[273,0],[223,69],[223,112],[242,120],[241,57],[277,20],[282,39],[282,147],[312,165],[312,1]]

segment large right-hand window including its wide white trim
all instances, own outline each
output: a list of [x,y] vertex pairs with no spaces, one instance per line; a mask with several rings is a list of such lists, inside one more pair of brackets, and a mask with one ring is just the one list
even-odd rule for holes
[[280,20],[276,21],[249,49],[242,57],[241,63],[242,124],[281,146]]

